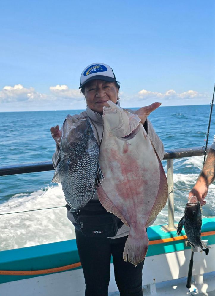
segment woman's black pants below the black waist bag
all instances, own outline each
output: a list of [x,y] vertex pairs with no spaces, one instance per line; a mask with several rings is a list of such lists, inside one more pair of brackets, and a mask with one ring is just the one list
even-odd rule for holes
[[75,230],[80,262],[83,268],[85,296],[107,296],[110,281],[110,256],[113,256],[114,276],[120,296],[142,296],[143,262],[136,267],[123,260],[128,236],[118,239],[93,238]]

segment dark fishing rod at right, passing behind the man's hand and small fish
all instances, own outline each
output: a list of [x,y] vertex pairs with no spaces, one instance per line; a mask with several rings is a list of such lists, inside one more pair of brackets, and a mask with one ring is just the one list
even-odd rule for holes
[[[214,84],[214,92],[215,92],[215,84]],[[210,115],[209,115],[209,121],[208,121],[208,131],[207,131],[207,139],[206,139],[206,143],[205,145],[202,147],[203,151],[204,151],[204,161],[203,161],[203,166],[205,163],[205,159],[206,159],[206,153],[207,153],[207,148],[208,148],[208,137],[209,137],[209,131],[210,131],[210,126],[211,126],[211,116],[212,116],[212,110],[213,110],[213,106],[214,106],[214,93],[213,93],[213,98],[212,98],[212,102],[211,102],[211,109],[210,109]],[[192,248],[192,246],[191,246]],[[205,251],[205,254],[208,255],[208,250]],[[187,283],[186,283],[186,287],[188,289],[190,289],[191,287],[191,278],[192,278],[192,270],[193,270],[193,255],[194,252],[191,252],[191,259],[190,259],[190,263],[189,263],[189,270],[188,270],[188,276],[187,276]]]

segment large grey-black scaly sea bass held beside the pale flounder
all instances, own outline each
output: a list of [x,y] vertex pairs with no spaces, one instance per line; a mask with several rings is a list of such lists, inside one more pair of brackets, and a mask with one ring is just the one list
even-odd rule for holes
[[67,115],[63,127],[59,161],[52,182],[61,183],[70,211],[84,207],[102,179],[99,145],[88,117]]

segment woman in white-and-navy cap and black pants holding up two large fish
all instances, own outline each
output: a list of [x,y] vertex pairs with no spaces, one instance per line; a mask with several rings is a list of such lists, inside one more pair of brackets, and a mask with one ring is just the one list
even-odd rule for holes
[[[118,93],[120,86],[110,66],[103,63],[94,63],[87,66],[82,72],[79,88],[85,96],[87,108],[86,111],[72,117],[77,119],[79,117],[88,116],[94,131],[94,136],[98,144],[100,144],[103,131],[103,107],[107,106],[106,102],[108,100],[119,105]],[[147,119],[147,116],[160,105],[161,103],[156,102],[150,106],[142,107],[137,111],[127,110],[140,117],[141,123],[150,136],[158,156],[162,160],[164,156],[163,144],[156,135],[150,121]],[[59,157],[60,138],[62,135],[59,125],[52,127],[51,133],[57,144],[56,152],[53,155],[53,165],[56,168]],[[92,199],[92,201],[95,200],[98,200],[97,194],[95,194]],[[142,268],[144,261],[140,262],[135,267],[132,263],[123,260],[123,250],[129,234],[129,227],[126,225],[121,226],[116,236],[113,237],[88,237],[82,234],[76,220],[69,211],[67,211],[67,217],[75,226],[76,243],[86,283],[85,295],[108,295],[110,257],[112,255],[114,275],[120,295],[142,296]]]

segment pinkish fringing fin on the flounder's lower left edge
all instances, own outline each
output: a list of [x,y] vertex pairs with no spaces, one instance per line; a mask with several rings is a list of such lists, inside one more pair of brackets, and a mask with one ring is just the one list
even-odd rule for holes
[[[117,216],[126,226],[129,226],[128,222],[123,217],[122,213],[119,209],[113,204],[113,202],[109,199],[102,186],[97,188],[97,194],[102,206],[107,210],[107,212],[112,213]],[[129,226],[130,227],[130,226]]]

